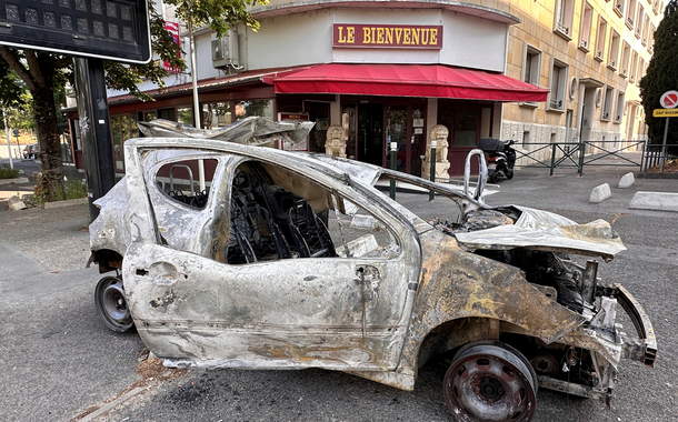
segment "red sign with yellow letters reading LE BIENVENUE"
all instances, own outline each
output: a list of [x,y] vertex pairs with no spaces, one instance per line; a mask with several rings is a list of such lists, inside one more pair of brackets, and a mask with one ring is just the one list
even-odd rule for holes
[[442,27],[335,23],[332,47],[440,50]]

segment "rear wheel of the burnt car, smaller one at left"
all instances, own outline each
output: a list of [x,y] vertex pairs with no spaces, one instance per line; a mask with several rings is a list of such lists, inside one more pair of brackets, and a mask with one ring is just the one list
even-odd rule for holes
[[94,303],[103,323],[111,330],[124,332],[134,325],[127,308],[122,280],[104,277],[94,289]]

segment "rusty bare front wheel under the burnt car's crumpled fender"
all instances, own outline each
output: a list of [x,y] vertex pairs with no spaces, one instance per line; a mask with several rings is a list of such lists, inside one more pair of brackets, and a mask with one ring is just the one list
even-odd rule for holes
[[536,406],[537,375],[520,352],[500,342],[462,348],[445,375],[445,401],[463,422],[526,422]]

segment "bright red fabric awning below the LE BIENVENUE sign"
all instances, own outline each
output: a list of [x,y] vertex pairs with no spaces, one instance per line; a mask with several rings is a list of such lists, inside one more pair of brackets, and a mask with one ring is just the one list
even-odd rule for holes
[[503,74],[441,64],[319,64],[265,78],[277,93],[546,101],[549,90]]

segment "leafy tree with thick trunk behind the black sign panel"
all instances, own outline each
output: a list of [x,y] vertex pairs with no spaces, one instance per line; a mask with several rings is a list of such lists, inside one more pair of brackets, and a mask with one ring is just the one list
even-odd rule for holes
[[[226,33],[236,22],[245,22],[257,29],[258,22],[246,11],[248,4],[267,3],[268,0],[167,0],[177,6],[179,18],[186,18],[196,26],[209,24],[218,34]],[[180,57],[180,48],[164,29],[164,20],[152,8],[149,10],[151,38],[154,52],[160,60],[171,67],[186,69]],[[38,129],[40,158],[42,160],[41,188],[47,199],[59,197],[63,191],[63,167],[58,130],[58,108],[54,104],[54,91],[61,91],[68,80],[72,80],[72,58],[51,54],[32,49],[17,50],[0,46],[0,77],[4,71],[13,70],[31,93],[34,120]],[[168,72],[153,62],[149,64],[123,66],[106,62],[106,82],[109,88],[127,90],[143,101],[152,100],[139,91],[141,78],[153,81],[164,88],[163,78]],[[4,81],[4,78],[1,78]],[[12,98],[0,84],[0,99],[8,103]]]

